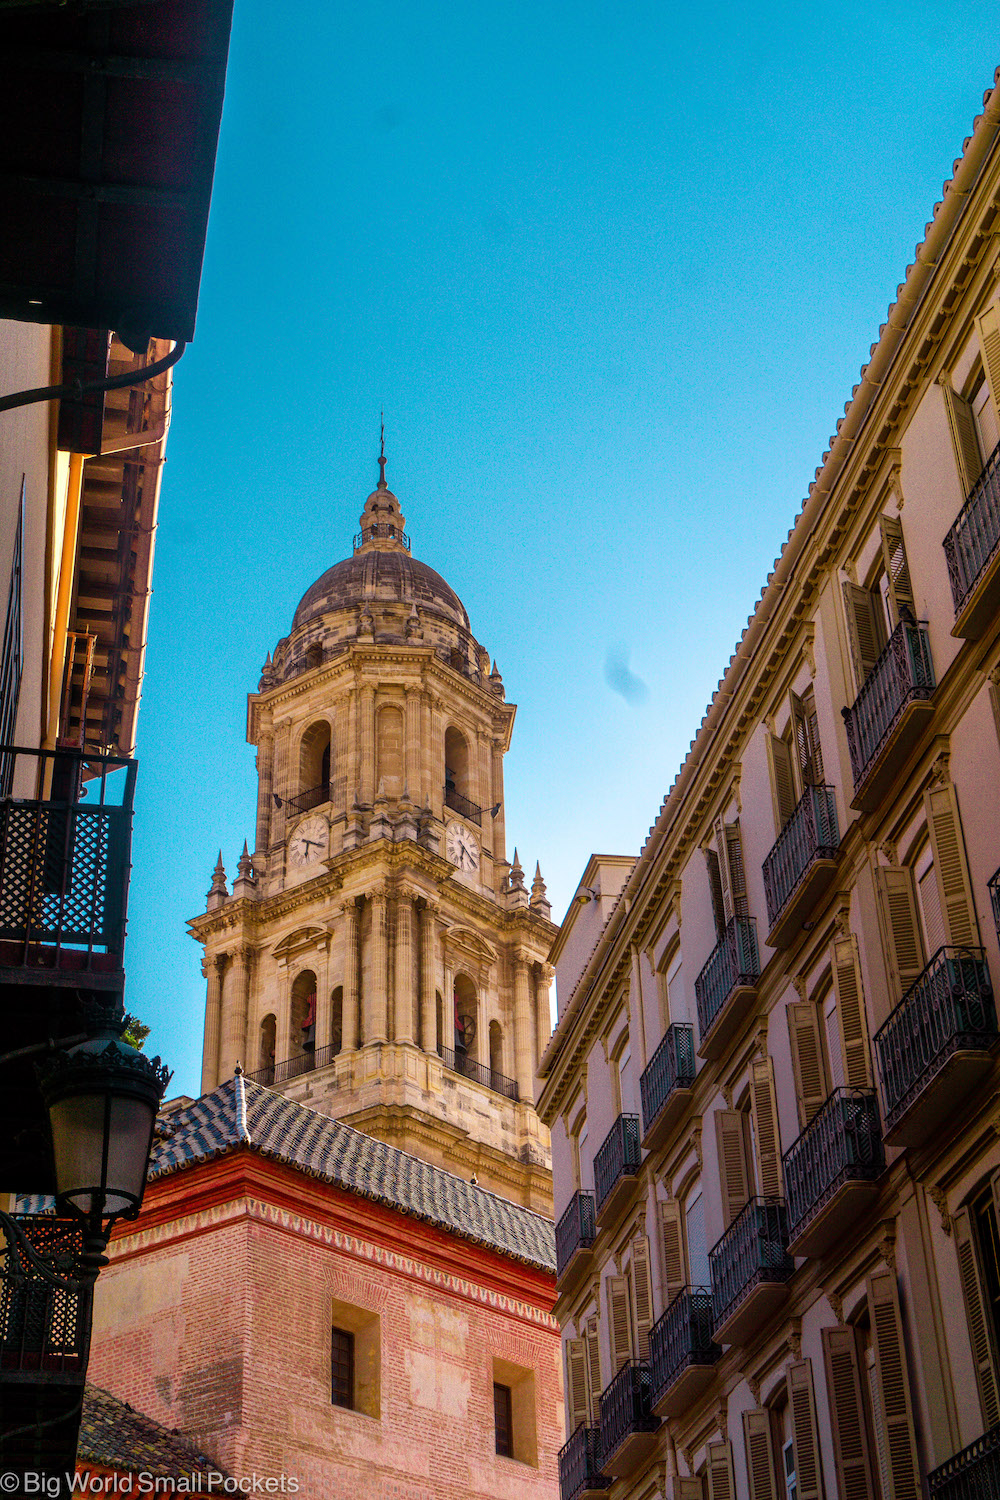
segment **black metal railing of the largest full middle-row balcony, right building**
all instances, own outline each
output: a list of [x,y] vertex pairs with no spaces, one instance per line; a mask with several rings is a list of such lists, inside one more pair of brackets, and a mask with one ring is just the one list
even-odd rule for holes
[[939,948],[876,1032],[886,1130],[954,1052],[988,1050],[997,1012],[982,948]]

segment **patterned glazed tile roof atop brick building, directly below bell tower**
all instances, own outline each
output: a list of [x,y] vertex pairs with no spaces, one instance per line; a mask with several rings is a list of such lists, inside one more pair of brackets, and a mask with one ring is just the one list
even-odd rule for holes
[[351,1125],[238,1074],[165,1118],[150,1182],[249,1148],[321,1182],[384,1203],[501,1256],[555,1274],[555,1226]]

